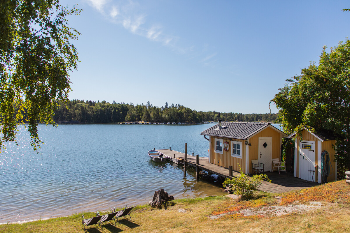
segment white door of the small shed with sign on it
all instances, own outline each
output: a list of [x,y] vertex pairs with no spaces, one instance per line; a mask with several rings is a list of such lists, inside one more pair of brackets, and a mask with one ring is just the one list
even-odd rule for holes
[[301,141],[299,145],[299,177],[315,181],[315,142]]

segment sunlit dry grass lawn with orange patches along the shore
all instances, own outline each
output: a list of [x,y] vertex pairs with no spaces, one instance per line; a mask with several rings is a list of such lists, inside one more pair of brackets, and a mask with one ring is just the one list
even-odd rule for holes
[[[345,181],[322,184],[313,188],[280,194],[256,192],[248,201],[222,197],[177,199],[167,209],[138,206],[132,212],[132,220],[123,218],[114,225],[88,226],[89,233],[98,232],[348,232],[350,229],[350,185]],[[322,203],[321,207],[309,211],[295,211],[285,215],[261,214],[273,207],[309,206]],[[306,207],[307,208],[307,207]],[[242,210],[260,211],[244,216]],[[208,216],[222,216],[210,219]],[[95,216],[84,213],[85,219]],[[112,224],[113,223],[113,224]],[[79,232],[82,216],[33,221],[23,224],[0,225],[1,233],[15,232]]]

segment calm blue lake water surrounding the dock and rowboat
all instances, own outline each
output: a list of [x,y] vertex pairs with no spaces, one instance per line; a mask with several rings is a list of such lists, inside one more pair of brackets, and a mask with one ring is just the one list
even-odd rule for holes
[[[164,189],[175,198],[224,195],[215,177],[154,163],[147,152],[168,149],[208,157],[203,125],[39,125],[36,154],[21,130],[19,146],[0,153],[0,223],[148,203]],[[207,178],[207,179],[205,179]],[[218,182],[217,182],[218,183]]]

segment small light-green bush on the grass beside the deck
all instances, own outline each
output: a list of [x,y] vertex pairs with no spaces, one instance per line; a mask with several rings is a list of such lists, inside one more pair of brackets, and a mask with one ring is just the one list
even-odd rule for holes
[[249,177],[242,172],[242,167],[239,166],[240,176],[233,179],[226,179],[223,186],[232,184],[231,191],[234,194],[241,195],[241,199],[247,199],[253,196],[254,190],[257,190],[262,180],[271,182],[266,174],[253,175]]

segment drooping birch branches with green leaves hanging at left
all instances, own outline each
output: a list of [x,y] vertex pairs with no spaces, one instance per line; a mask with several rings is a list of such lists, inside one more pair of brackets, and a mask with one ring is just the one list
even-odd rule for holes
[[78,62],[71,40],[79,32],[66,17],[79,13],[58,0],[0,2],[0,150],[15,141],[18,122],[28,123],[36,150],[37,122],[54,123],[58,101],[68,101],[69,72]]

